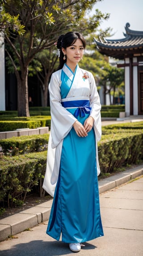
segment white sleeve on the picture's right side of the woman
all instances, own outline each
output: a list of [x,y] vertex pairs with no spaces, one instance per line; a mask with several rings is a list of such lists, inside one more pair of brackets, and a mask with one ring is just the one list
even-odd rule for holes
[[97,141],[101,139],[101,103],[100,97],[97,92],[97,86],[93,74],[89,72],[89,83],[90,83],[90,106],[92,110],[90,111],[90,116],[93,117],[94,123],[93,127],[96,134]]

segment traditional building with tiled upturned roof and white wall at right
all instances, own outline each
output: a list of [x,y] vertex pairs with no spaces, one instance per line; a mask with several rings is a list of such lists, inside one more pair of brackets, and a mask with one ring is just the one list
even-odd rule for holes
[[124,38],[95,40],[100,53],[124,60],[126,116],[143,115],[143,31],[129,29],[126,23]]

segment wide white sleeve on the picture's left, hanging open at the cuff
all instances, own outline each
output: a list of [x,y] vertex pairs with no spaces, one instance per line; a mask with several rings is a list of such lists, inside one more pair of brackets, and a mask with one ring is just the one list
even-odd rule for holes
[[58,146],[62,139],[67,136],[76,121],[76,118],[61,104],[59,77],[59,72],[53,73],[49,85],[52,148]]

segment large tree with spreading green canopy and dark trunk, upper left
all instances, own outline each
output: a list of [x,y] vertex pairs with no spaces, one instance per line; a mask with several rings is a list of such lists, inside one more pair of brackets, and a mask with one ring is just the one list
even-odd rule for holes
[[57,36],[74,29],[94,31],[102,18],[99,10],[83,18],[97,0],[4,0],[0,29],[8,44],[7,55],[17,77],[18,116],[29,116],[28,71],[36,54],[50,47]]

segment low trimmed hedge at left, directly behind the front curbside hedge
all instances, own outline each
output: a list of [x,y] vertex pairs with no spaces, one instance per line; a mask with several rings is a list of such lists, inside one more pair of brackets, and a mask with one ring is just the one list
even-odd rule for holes
[[49,134],[11,137],[0,140],[0,155],[13,156],[47,150]]

